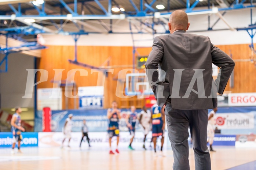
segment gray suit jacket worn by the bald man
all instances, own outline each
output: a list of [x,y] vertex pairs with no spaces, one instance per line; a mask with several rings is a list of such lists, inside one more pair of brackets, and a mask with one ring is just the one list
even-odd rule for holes
[[[212,63],[220,67],[216,80]],[[158,105],[162,107],[169,97],[172,108],[182,110],[217,107],[216,93],[223,94],[234,66],[209,37],[183,30],[155,37],[145,64]]]

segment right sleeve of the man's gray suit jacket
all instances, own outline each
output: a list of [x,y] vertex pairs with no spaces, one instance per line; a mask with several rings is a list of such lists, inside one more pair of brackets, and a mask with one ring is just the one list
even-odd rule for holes
[[[211,43],[210,38],[209,41]],[[212,63],[220,68],[220,72],[218,73],[217,79],[215,80],[218,87],[218,93],[223,94],[227,86],[228,79],[230,78],[231,73],[234,70],[235,62],[222,50],[220,50],[216,46],[213,46],[212,43],[211,53]]]

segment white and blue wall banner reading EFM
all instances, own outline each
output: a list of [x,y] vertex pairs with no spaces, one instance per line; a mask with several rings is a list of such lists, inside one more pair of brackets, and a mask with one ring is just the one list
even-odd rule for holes
[[79,109],[103,107],[104,86],[78,87]]

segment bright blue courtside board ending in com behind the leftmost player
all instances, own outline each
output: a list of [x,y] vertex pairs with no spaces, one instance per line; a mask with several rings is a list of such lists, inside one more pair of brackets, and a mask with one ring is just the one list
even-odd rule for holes
[[[11,147],[13,143],[11,132],[0,132],[0,148]],[[37,147],[38,146],[38,133],[23,132],[21,147]]]

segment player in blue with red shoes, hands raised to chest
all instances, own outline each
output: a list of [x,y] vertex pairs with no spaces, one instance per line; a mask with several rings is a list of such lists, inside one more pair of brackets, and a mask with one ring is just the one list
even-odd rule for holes
[[117,102],[116,101],[113,101],[112,102],[112,108],[107,110],[107,118],[108,118],[108,121],[109,121],[109,127],[107,129],[107,131],[109,133],[109,147],[110,147],[109,154],[115,154],[112,151],[112,148],[111,148],[111,139],[114,136],[117,137],[116,153],[119,154],[119,151],[118,151],[118,143],[119,143],[119,124],[118,124],[118,121],[119,121],[119,119],[121,119],[121,114],[120,114],[120,110],[117,108]]

